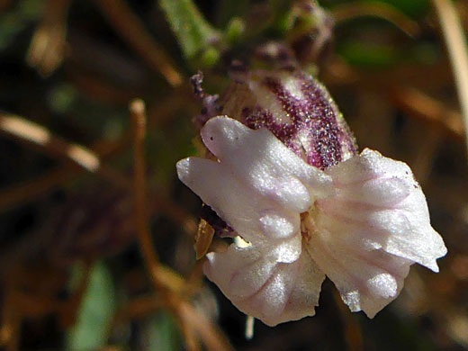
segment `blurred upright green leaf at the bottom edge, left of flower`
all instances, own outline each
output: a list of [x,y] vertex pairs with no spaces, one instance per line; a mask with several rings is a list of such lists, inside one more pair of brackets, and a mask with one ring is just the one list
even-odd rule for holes
[[103,262],[92,268],[76,324],[67,330],[67,350],[94,350],[107,344],[115,309],[112,277]]

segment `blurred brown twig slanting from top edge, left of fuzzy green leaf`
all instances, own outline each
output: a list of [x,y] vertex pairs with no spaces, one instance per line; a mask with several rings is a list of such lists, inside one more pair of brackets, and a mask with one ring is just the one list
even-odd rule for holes
[[107,17],[122,38],[146,59],[148,64],[166,77],[170,85],[182,83],[182,75],[175,68],[171,59],[166,55],[155,40],[148,34],[139,18],[133,14],[130,7],[122,0],[95,0],[101,11]]

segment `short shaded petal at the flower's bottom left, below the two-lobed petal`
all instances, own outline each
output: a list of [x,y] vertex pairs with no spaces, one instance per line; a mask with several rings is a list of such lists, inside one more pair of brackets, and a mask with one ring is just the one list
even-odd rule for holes
[[293,263],[279,263],[257,247],[210,253],[205,275],[244,313],[275,326],[315,314],[325,278],[307,253]]

